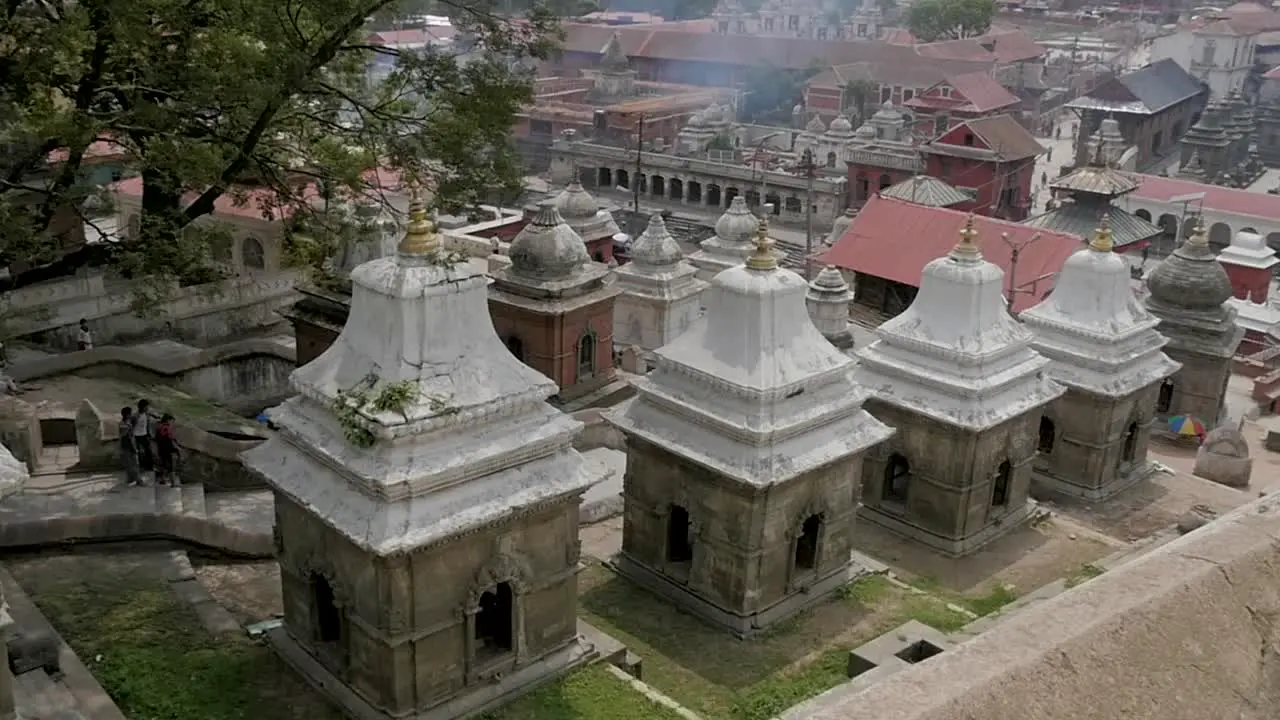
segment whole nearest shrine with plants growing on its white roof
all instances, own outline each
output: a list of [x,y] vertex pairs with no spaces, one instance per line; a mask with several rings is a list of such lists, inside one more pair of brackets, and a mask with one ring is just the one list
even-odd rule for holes
[[594,655],[577,532],[600,478],[545,402],[556,384],[494,332],[481,263],[411,218],[396,256],[352,272],[349,322],[242,457],[275,495],[273,644],[353,717],[443,720]]

